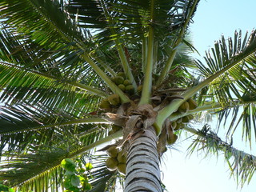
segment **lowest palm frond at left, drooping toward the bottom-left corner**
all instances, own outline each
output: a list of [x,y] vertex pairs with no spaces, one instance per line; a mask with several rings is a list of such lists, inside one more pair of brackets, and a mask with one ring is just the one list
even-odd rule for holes
[[[53,183],[54,186],[58,186],[63,176],[60,170],[62,159],[74,158],[87,152],[90,155],[90,150],[96,145],[95,142],[106,137],[106,130],[95,130],[89,134],[82,134],[80,131],[77,137],[74,137],[71,130],[63,132],[65,131],[54,138],[50,146],[42,143],[38,149],[34,143],[34,147],[31,145],[27,153],[17,154],[12,151],[4,153],[2,157],[6,159],[1,162],[1,180],[9,186],[30,186],[30,189],[31,186],[39,187],[40,189],[36,188],[38,191],[49,188]],[[57,177],[59,179],[54,178],[55,174],[59,174]],[[38,182],[42,182],[43,185],[38,186],[36,184]]]

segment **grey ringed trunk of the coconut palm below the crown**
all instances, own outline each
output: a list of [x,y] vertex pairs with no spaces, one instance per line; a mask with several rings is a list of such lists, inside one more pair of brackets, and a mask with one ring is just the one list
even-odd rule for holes
[[125,192],[161,192],[157,136],[152,126],[131,138],[126,164]]

